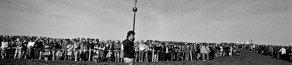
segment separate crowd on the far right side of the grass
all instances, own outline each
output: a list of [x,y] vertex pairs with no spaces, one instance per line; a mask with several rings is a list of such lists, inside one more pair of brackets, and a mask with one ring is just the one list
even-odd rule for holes
[[243,49],[255,51],[261,55],[271,56],[273,58],[286,60],[291,62],[291,46],[279,46],[279,45],[242,45]]

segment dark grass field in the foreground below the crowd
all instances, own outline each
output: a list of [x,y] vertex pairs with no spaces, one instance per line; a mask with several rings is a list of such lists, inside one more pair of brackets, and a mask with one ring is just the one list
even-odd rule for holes
[[[33,64],[33,65],[122,65],[121,62],[74,62],[74,61],[44,61],[44,60],[29,60],[29,59],[0,59],[0,65],[13,64]],[[135,65],[198,65],[198,64],[228,64],[228,65],[292,65],[292,62],[271,58],[268,56],[257,54],[250,50],[241,50],[241,56],[232,57],[217,57],[215,60],[195,60],[195,61],[166,61],[166,62],[149,62],[149,63],[135,63]]]

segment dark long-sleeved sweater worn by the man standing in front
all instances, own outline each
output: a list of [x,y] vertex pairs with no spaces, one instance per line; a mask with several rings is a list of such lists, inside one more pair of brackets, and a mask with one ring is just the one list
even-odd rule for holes
[[124,40],[124,57],[135,58],[134,42],[129,39]]

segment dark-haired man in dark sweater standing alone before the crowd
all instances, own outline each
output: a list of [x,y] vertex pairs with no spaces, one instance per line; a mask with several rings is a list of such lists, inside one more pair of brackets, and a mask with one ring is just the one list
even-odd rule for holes
[[126,65],[133,65],[134,64],[134,58],[135,58],[135,50],[134,50],[134,31],[129,31],[127,33],[127,39],[124,40],[124,63]]

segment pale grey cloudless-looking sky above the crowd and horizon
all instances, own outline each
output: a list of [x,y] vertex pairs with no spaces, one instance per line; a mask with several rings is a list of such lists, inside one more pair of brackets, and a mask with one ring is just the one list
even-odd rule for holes
[[[135,39],[291,45],[291,0],[138,0]],[[133,0],[0,0],[0,35],[125,40]]]

